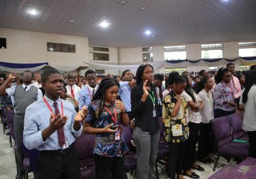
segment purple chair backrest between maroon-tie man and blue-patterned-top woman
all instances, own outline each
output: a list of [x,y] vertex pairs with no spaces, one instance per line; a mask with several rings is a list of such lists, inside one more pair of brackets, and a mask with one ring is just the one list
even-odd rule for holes
[[94,134],[81,134],[80,137],[76,138],[74,143],[79,153],[79,159],[89,159],[93,157],[93,148],[95,144]]

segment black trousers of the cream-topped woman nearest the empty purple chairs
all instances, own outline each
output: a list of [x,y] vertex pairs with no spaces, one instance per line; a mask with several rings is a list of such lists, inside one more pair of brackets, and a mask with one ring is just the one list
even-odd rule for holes
[[214,137],[210,123],[200,123],[200,136],[198,141],[198,159],[205,159],[214,152]]

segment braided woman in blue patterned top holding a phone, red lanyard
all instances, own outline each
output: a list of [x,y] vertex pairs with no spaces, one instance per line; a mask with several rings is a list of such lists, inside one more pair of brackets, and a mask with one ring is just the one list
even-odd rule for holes
[[129,125],[129,117],[124,103],[116,99],[118,89],[116,79],[102,79],[83,124],[84,133],[97,134],[93,151],[97,179],[108,179],[110,174],[113,179],[126,178],[124,155],[129,149],[124,141],[122,125]]

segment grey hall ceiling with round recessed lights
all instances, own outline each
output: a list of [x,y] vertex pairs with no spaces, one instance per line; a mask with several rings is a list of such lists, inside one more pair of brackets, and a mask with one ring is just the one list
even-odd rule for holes
[[[109,47],[256,40],[255,0],[120,1],[0,0],[0,27],[87,36]],[[102,29],[102,20],[111,25]]]

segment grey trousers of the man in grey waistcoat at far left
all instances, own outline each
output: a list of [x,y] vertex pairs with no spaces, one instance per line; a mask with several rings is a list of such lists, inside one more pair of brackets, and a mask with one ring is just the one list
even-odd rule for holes
[[24,116],[15,114],[14,117],[14,132],[15,132],[15,144],[17,145],[17,169],[18,173],[23,173],[23,129],[24,129]]

